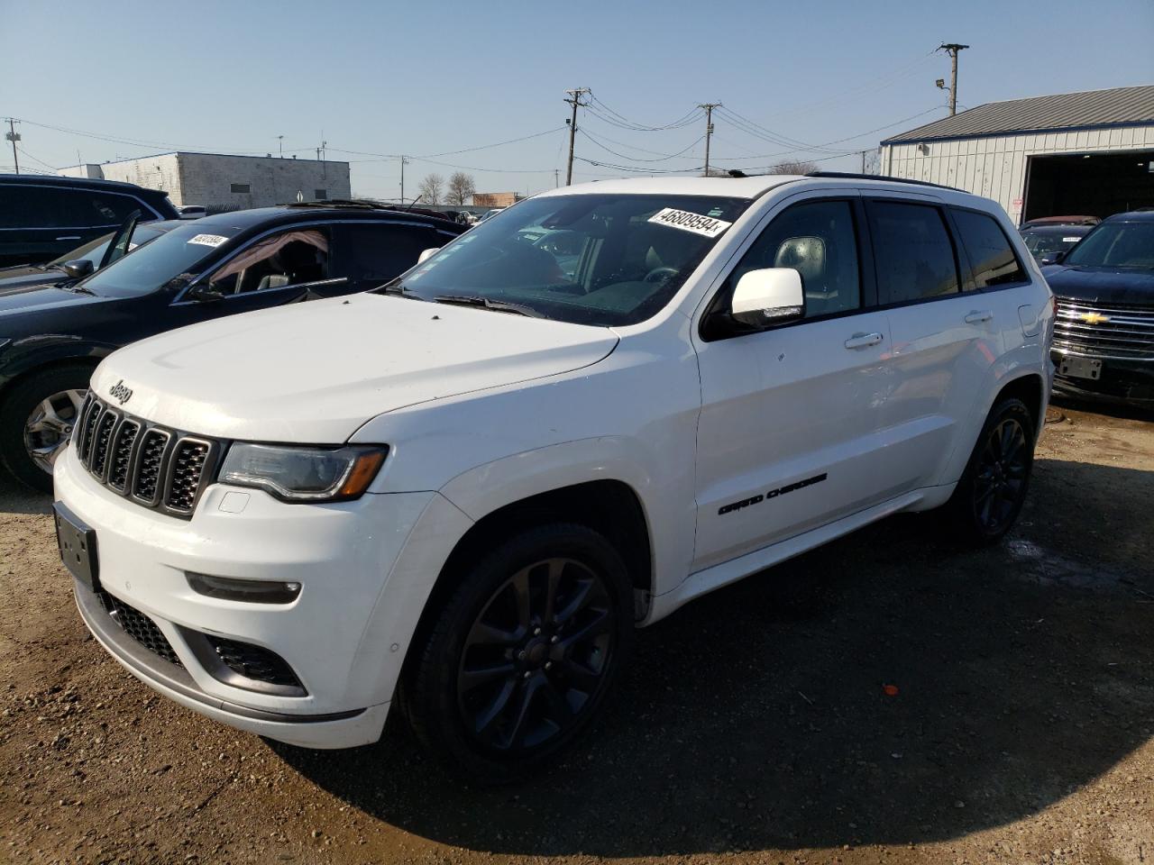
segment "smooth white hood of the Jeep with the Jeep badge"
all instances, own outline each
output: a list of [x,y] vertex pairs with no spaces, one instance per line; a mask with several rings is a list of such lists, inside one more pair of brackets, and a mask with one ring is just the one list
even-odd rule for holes
[[[92,386],[190,432],[337,444],[379,414],[568,373],[616,344],[608,328],[355,294],[141,340],[105,359]],[[132,392],[122,404],[118,383]]]

